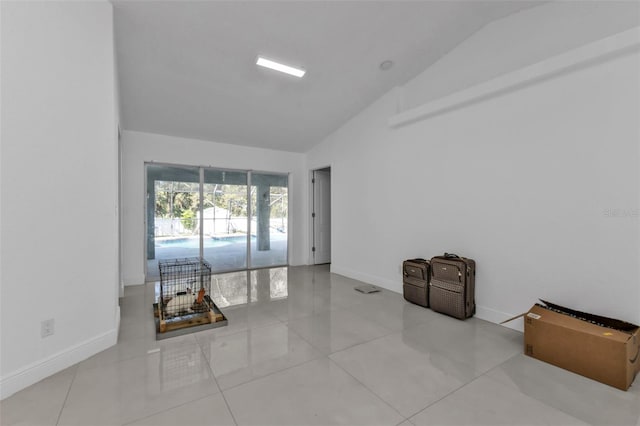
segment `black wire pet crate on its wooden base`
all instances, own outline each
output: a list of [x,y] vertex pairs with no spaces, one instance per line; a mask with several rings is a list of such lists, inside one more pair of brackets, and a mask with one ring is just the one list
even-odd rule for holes
[[[158,339],[165,333],[208,324],[226,325],[211,299],[211,265],[201,258],[158,262],[160,295],[156,304]],[[196,330],[190,330],[196,331]]]

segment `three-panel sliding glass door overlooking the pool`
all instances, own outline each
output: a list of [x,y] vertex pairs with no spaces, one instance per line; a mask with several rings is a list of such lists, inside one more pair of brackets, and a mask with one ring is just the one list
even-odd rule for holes
[[147,280],[158,260],[202,256],[214,272],[283,266],[288,176],[147,164]]

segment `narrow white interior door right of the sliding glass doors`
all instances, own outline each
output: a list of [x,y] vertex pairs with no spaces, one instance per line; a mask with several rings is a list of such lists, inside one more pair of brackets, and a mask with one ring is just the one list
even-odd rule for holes
[[313,263],[331,262],[331,169],[313,171]]

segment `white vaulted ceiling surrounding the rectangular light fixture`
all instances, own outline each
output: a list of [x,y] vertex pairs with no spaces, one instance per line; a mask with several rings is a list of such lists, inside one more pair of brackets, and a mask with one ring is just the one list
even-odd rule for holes
[[[540,2],[112,3],[124,129],[306,152],[487,23]],[[259,68],[258,55],[307,74]]]

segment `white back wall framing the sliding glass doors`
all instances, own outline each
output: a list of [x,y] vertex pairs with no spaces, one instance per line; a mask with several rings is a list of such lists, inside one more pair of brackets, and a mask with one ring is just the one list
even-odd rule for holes
[[125,131],[122,138],[123,276],[125,285],[144,282],[144,163],[170,163],[256,170],[289,175],[289,263],[308,262],[305,155],[216,142]]

